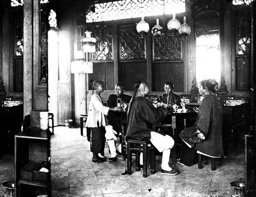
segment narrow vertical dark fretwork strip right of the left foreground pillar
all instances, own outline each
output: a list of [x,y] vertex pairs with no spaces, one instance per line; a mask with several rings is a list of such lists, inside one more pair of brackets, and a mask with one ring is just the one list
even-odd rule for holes
[[40,26],[40,85],[48,83],[48,6],[41,6]]

